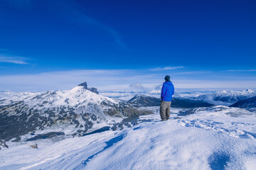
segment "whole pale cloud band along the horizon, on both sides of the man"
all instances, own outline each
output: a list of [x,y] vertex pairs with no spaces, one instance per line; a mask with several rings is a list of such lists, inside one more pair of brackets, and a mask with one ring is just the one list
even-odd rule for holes
[[[172,76],[176,88],[241,88],[255,89],[256,79],[211,79],[201,74]],[[194,72],[195,73],[195,72]],[[196,72],[199,73],[199,72]],[[206,73],[206,72],[201,72]],[[213,72],[214,73],[214,72]],[[40,74],[0,75],[0,91],[46,91],[72,89],[87,81],[88,86],[99,91],[145,91],[161,88],[164,82],[162,73],[151,74],[149,70],[136,69],[87,69],[65,72],[44,72]],[[135,82],[135,83],[134,83]],[[139,82],[139,83],[136,83]]]

